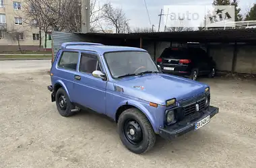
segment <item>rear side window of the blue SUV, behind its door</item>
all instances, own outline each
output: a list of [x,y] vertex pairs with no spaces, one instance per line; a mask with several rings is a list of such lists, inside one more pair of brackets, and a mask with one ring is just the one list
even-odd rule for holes
[[78,61],[78,52],[62,52],[58,66],[63,69],[76,70]]

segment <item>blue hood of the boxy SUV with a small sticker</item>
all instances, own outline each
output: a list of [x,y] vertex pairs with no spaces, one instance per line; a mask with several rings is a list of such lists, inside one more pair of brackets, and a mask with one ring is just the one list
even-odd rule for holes
[[204,83],[162,73],[126,77],[114,85],[122,87],[125,95],[162,105],[168,99],[181,101],[199,95],[207,87]]

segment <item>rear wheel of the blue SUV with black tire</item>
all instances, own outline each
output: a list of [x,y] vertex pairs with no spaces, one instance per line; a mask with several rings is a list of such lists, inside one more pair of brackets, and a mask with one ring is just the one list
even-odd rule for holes
[[70,102],[69,96],[63,88],[59,88],[56,93],[56,106],[59,114],[64,117],[69,117],[75,114],[73,109],[75,106]]

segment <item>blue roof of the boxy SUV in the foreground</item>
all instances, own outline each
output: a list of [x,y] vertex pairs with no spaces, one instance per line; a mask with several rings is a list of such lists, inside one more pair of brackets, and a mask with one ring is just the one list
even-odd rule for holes
[[90,50],[94,52],[98,52],[100,55],[105,52],[119,52],[119,51],[142,51],[146,52],[146,50],[142,48],[135,48],[129,46],[104,46],[104,45],[71,45],[66,46],[67,49],[73,50]]

